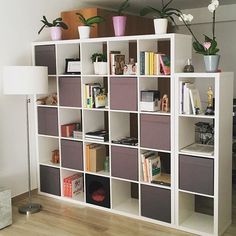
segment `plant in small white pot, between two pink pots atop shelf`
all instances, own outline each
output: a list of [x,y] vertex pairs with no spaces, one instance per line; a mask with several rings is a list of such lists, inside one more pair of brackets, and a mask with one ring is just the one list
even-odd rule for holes
[[78,26],[80,39],[87,39],[90,36],[90,29],[94,24],[99,24],[104,21],[102,16],[92,16],[90,18],[85,18],[81,13],[77,12],[76,15],[79,16],[79,20],[82,26]]

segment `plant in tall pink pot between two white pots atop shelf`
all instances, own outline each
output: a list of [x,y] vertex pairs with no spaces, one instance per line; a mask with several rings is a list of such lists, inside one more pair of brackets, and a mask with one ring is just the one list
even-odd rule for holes
[[123,11],[129,7],[129,0],[125,0],[119,6],[117,15],[112,17],[115,36],[125,35],[125,26],[127,17],[123,15]]

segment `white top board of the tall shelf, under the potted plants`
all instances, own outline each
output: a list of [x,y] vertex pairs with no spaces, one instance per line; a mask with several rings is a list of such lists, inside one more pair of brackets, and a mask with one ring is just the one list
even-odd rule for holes
[[46,44],[73,44],[73,43],[97,43],[97,42],[112,42],[112,41],[132,41],[132,40],[170,40],[175,37],[192,37],[191,35],[184,34],[146,34],[146,35],[131,35],[131,36],[120,36],[120,37],[101,37],[101,38],[89,38],[89,39],[69,39],[69,40],[58,40],[58,41],[39,41],[33,42],[33,45],[46,45]]

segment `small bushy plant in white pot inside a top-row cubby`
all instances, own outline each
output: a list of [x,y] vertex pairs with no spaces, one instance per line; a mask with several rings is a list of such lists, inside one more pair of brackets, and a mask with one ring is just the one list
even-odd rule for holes
[[94,53],[91,56],[94,65],[94,74],[105,75],[107,74],[107,55],[106,53]]

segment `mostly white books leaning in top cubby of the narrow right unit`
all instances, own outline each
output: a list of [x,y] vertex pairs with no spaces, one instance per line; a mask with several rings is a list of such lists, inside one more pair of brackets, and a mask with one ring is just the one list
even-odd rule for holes
[[181,114],[200,114],[202,113],[202,104],[199,91],[194,83],[187,81],[179,82],[179,111]]

